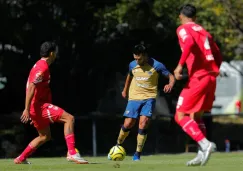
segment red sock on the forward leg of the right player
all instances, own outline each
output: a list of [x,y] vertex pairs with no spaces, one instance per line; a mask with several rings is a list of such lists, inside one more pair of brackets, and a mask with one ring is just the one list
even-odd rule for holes
[[196,142],[205,138],[202,131],[199,129],[198,124],[189,116],[185,116],[182,120],[180,120],[179,125]]

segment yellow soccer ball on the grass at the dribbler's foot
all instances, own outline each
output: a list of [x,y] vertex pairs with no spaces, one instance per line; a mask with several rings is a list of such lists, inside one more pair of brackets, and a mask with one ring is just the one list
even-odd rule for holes
[[126,156],[125,149],[120,145],[115,145],[110,149],[108,159],[113,161],[122,161]]

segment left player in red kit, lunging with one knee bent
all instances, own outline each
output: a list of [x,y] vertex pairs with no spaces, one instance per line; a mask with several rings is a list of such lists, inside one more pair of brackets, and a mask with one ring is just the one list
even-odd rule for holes
[[37,129],[39,136],[33,139],[26,149],[14,159],[15,164],[30,164],[26,159],[45,142],[51,139],[50,123],[64,123],[64,135],[68,148],[67,160],[77,164],[87,164],[75,149],[74,117],[62,108],[52,104],[49,88],[49,65],[56,58],[56,44],[44,42],[40,47],[41,59],[35,63],[30,71],[26,85],[25,109],[21,122],[31,124]]

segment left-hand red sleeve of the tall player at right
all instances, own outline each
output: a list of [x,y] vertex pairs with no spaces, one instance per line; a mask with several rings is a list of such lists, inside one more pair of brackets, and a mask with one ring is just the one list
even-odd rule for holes
[[185,28],[178,28],[177,36],[179,38],[181,49],[182,49],[182,54],[181,54],[179,64],[183,66],[186,62],[187,57],[191,53],[191,48],[194,45],[194,39],[189,33],[187,33]]

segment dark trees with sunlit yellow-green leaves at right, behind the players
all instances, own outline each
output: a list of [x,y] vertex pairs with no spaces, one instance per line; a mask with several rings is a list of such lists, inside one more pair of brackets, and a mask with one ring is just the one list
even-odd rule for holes
[[178,9],[188,2],[197,6],[197,22],[213,34],[224,60],[243,59],[239,0],[0,0],[0,72],[8,78],[0,103],[12,104],[1,112],[22,110],[28,72],[45,40],[59,45],[51,67],[54,101],[74,113],[99,110],[104,99],[120,95],[119,80],[137,43],[173,71],[181,54]]

